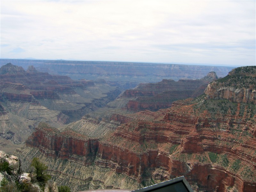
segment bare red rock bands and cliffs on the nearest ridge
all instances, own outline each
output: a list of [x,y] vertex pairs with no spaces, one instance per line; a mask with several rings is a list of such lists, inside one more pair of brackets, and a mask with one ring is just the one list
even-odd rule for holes
[[[191,108],[183,106],[180,111],[186,110],[187,113]],[[226,154],[229,161],[239,159],[242,165],[256,169],[256,156],[253,154],[256,150],[255,137],[246,137],[244,140],[242,136],[231,134],[229,124],[232,116],[209,120],[203,116],[182,114],[180,111],[168,109],[162,119],[149,122],[133,120],[121,124],[104,141],[88,139],[71,131],[57,133],[53,129],[38,128],[26,144],[39,148],[46,156],[78,161],[83,157],[87,159],[85,164],[90,164],[97,157],[95,164],[125,173],[139,182],[144,179],[143,173],[152,168],[155,170],[152,172],[154,179],[168,180],[185,175],[188,181],[196,182],[200,190],[225,191],[228,186],[235,186],[239,191],[253,191],[256,182],[244,180],[236,172],[219,164],[176,159],[175,155],[161,147],[143,149],[145,143],[176,144],[180,145],[179,154]],[[124,119],[119,118],[121,121]],[[226,129],[216,130],[217,123]],[[233,121],[232,126],[238,125],[251,132],[255,131],[255,126],[243,119]],[[243,139],[242,143],[238,142],[240,139]]]

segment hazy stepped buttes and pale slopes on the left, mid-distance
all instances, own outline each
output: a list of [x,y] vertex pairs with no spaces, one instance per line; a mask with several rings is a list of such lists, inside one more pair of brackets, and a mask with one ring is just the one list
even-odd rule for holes
[[0,68],[0,84],[0,142],[7,152],[12,151],[8,146],[24,143],[39,122],[61,127],[105,106],[122,91],[105,80],[72,80],[11,63]]

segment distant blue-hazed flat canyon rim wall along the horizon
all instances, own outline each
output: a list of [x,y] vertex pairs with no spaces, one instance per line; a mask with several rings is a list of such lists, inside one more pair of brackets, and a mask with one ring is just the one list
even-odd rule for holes
[[[68,60],[22,60],[0,59],[1,66],[6,63],[27,69],[33,65],[41,72],[69,76],[72,79],[105,79],[106,81],[137,83],[156,83],[162,79],[200,79],[210,71],[218,77],[224,77],[233,67],[176,65],[159,63],[108,62],[108,61],[68,61]],[[124,89],[129,89],[126,87]]]

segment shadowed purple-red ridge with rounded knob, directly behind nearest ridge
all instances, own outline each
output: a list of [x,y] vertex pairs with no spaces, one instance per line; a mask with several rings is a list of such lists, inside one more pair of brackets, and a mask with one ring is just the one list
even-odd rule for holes
[[[218,79],[215,72],[210,72],[204,78],[197,80],[163,79],[158,83],[140,84],[135,89],[126,90],[122,96],[108,106],[118,106],[132,111],[157,111],[169,108],[172,102],[180,99],[195,98],[204,93],[207,85]],[[123,101],[123,102],[122,102]],[[121,106],[121,103],[125,105]]]

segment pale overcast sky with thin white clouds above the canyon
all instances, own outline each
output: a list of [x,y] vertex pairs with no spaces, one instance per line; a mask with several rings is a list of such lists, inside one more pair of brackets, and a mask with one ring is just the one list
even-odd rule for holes
[[0,58],[256,65],[255,1],[0,1]]

